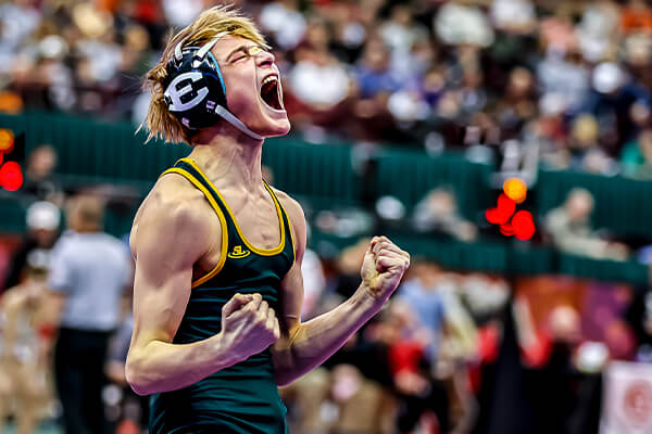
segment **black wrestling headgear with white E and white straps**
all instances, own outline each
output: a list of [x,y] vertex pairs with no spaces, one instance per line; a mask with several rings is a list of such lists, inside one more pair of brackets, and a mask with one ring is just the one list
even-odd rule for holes
[[189,129],[210,127],[223,118],[247,136],[263,140],[227,110],[220,65],[211,53],[215,42],[225,35],[228,31],[218,34],[201,48],[181,49],[184,41],[177,43],[163,81],[165,104],[170,113]]

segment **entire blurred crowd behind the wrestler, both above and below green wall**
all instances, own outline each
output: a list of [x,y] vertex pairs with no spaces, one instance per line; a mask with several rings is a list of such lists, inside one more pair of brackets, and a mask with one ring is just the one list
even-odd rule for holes
[[[141,77],[170,27],[212,4],[0,0],[0,111],[140,123]],[[652,177],[649,2],[236,4],[269,38],[293,129],[308,141],[463,148],[502,155],[503,171],[543,164]],[[27,232],[0,248],[0,432],[13,420],[21,434],[41,421],[70,433],[140,433],[147,403],[124,376],[128,245],[103,232],[104,197],[64,191],[55,167],[52,146],[28,156]],[[537,216],[542,241],[626,259],[630,248],[591,226],[593,208],[590,192],[569,191]],[[454,189],[431,190],[411,213],[424,237],[481,235]],[[352,294],[366,245],[306,252],[303,319]],[[300,434],[598,433],[602,373],[616,360],[652,361],[650,286],[463,273],[415,258],[391,303],[281,395]],[[649,413],[652,399],[635,398]]]

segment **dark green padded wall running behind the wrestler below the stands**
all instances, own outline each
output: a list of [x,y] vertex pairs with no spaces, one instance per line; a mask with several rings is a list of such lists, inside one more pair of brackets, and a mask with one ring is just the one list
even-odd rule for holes
[[[109,124],[64,114],[28,112],[18,116],[0,114],[0,127],[26,132],[27,152],[50,143],[59,152],[57,171],[71,184],[115,182],[145,193],[158,176],[187,155],[186,145],[154,141],[135,135],[127,123]],[[361,200],[362,180],[351,163],[347,144],[311,144],[292,138],[268,140],[263,163],[274,173],[274,184],[326,207]],[[457,193],[462,213],[473,219],[491,206],[496,193],[487,186],[491,167],[467,162],[461,155],[429,157],[413,150],[385,149],[377,155],[376,192],[391,194],[413,207],[435,187],[450,186]],[[538,212],[563,202],[573,187],[590,190],[597,199],[595,227],[627,234],[652,235],[652,182],[604,178],[567,171],[541,171],[537,186]],[[0,232],[24,230],[25,204],[10,195],[0,199]],[[106,215],[106,229],[128,231],[130,220]],[[340,240],[341,241],[341,240]],[[645,283],[647,267],[564,255],[548,247],[506,243],[461,243],[428,238],[399,237],[414,255],[423,255],[457,269],[478,269],[514,275],[566,273],[612,281]],[[342,244],[343,245],[343,244]],[[339,245],[340,247],[342,245]]]

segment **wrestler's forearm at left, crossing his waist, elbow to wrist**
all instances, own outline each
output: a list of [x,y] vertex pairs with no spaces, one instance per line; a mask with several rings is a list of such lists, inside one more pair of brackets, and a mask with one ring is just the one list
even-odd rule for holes
[[149,395],[186,387],[237,361],[221,335],[191,344],[150,341],[129,349],[125,374],[137,394]]

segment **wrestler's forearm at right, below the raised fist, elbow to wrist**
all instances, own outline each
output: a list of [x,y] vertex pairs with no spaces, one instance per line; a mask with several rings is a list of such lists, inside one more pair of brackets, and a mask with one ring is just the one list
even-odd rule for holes
[[281,339],[276,345],[276,383],[289,384],[322,365],[376,315],[383,304],[361,285],[335,309],[298,326],[289,339]]

